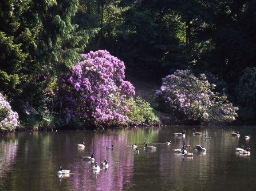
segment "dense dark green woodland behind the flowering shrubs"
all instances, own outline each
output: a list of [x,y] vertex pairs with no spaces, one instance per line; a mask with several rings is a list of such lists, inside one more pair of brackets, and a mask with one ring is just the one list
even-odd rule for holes
[[159,87],[176,70],[204,74],[239,108],[236,122],[254,124],[255,10],[254,0],[1,0],[0,92],[23,126],[63,126],[60,78],[82,53],[107,50]]

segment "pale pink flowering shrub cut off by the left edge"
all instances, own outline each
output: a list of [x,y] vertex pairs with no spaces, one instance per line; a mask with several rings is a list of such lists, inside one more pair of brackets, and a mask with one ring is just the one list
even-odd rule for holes
[[10,131],[18,126],[18,113],[11,110],[9,102],[0,93],[0,130]]

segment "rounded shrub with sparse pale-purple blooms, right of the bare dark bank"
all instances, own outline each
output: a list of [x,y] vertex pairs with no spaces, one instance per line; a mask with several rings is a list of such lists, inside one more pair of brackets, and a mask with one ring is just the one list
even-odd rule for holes
[[195,77],[190,70],[177,70],[163,78],[160,90],[156,90],[160,107],[186,121],[207,124],[231,122],[237,110],[225,95],[214,92],[206,75]]

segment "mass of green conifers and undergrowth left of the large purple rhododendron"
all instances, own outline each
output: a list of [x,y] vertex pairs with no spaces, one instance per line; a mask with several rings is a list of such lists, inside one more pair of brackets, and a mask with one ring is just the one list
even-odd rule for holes
[[79,7],[78,0],[0,3],[0,91],[25,124],[52,124],[60,109],[56,79],[79,61],[98,31],[90,23],[77,25]]

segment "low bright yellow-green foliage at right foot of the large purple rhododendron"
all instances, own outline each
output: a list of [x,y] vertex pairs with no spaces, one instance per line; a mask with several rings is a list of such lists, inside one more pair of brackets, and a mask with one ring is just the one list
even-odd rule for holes
[[153,112],[149,102],[140,97],[130,98],[128,102],[133,105],[128,117],[135,124],[156,124],[159,122],[159,118]]

